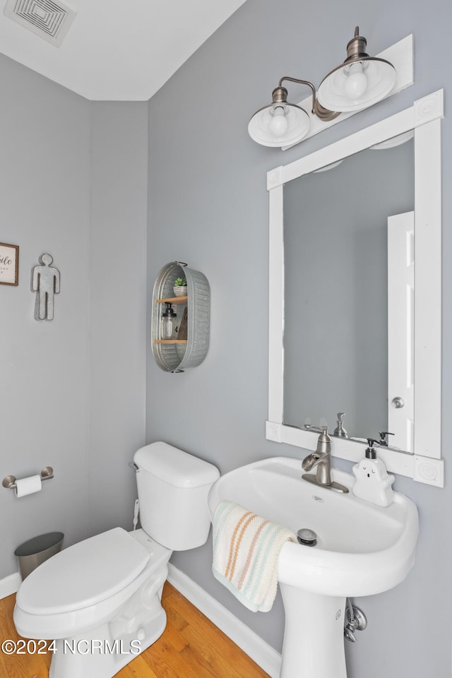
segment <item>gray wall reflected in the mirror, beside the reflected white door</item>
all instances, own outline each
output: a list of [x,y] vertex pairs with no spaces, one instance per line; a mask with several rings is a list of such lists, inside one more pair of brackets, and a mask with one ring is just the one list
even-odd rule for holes
[[285,424],[391,431],[388,218],[414,209],[413,171],[408,141],[285,184]]

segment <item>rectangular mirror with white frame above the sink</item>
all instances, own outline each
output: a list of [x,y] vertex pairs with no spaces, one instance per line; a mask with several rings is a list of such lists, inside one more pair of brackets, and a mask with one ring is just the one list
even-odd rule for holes
[[[418,100],[403,112],[289,165],[277,167],[267,175],[270,214],[267,439],[314,450],[317,434],[305,428],[306,425],[328,425],[330,434],[333,434],[337,412],[345,411],[345,405],[347,409],[353,410],[354,400],[361,404],[366,401],[367,413],[363,413],[366,408],[362,407],[356,407],[356,412],[350,412],[352,429],[347,429],[345,418],[344,427],[350,437],[332,438],[333,456],[351,461],[359,460],[367,443],[354,441],[352,437],[361,440],[367,437],[378,438],[378,432],[392,432],[393,427],[396,429],[396,436],[387,436],[388,446],[379,446],[379,456],[388,470],[439,486],[444,484],[441,460],[441,117],[443,92],[439,90]],[[406,141],[410,137],[412,141]],[[389,140],[396,140],[396,144]],[[399,147],[400,141],[406,143]],[[382,242],[384,239],[386,254],[388,227],[388,261],[386,256],[385,261],[382,261],[381,250],[374,246],[376,236],[373,231],[368,229],[364,234],[345,234],[344,223],[347,220],[337,218],[340,202],[333,207],[333,218],[326,217],[321,210],[321,203],[333,201],[331,186],[338,183],[332,178],[334,173],[339,170],[345,173],[348,171],[348,183],[353,183],[353,177],[361,172],[360,165],[353,163],[357,162],[358,157],[359,162],[362,162],[364,152],[368,155],[367,162],[371,162],[369,174],[376,181],[375,159],[381,153],[367,149],[381,149],[382,145],[398,149],[395,155],[392,150],[388,151],[388,161],[398,172],[398,186],[404,185],[406,193],[405,196],[398,196],[398,191],[393,191],[394,197],[391,198],[391,186],[387,178],[386,184],[383,181],[383,186],[376,189],[377,195],[385,194],[388,197],[388,206],[383,206],[380,211],[390,218],[387,220],[388,225],[385,223],[384,238],[381,234],[378,236]],[[401,164],[398,164],[399,160]],[[377,164],[381,165],[380,162]],[[381,166],[381,172],[385,174],[384,165]],[[332,167],[331,172],[319,172],[326,167]],[[400,182],[402,173],[410,174],[407,181]],[[320,192],[320,198],[316,199],[311,189],[314,186],[313,178],[314,182],[319,182],[317,177],[327,174],[330,188],[326,189],[323,196]],[[357,182],[356,186],[359,194],[365,192]],[[339,201],[342,195],[340,192]],[[370,193],[368,198],[369,195]],[[366,203],[364,208],[359,208],[353,191],[347,198],[344,196],[344,202],[345,211],[355,214],[361,210],[361,222],[371,222],[373,219],[382,221],[381,214],[376,215],[379,210],[378,197],[373,207],[367,199],[371,210],[369,219],[365,213]],[[352,203],[355,202],[354,206]],[[294,213],[297,215],[296,226],[289,227],[288,220],[293,220]],[[334,232],[333,228],[317,232],[321,231],[323,223],[332,220],[338,232]],[[386,222],[386,218],[384,221]],[[360,246],[357,245],[359,240],[362,241]],[[364,306],[367,304],[370,307],[366,309],[368,318],[375,311],[375,325],[379,323],[378,341],[380,344],[386,343],[386,346],[380,351],[371,350],[377,369],[374,373],[369,372],[369,375],[362,367],[355,369],[356,366],[352,364],[353,359],[357,362],[362,360],[356,347],[350,342],[350,337],[357,335],[358,330],[363,334],[359,317],[356,313],[341,316],[342,306],[347,306],[348,299],[338,298],[341,288],[337,284],[336,275],[341,266],[339,264],[337,270],[333,268],[335,256],[340,259],[340,263],[343,261],[343,255],[336,249],[342,241],[345,242],[345,249],[356,250],[355,259],[362,265],[361,277],[358,273],[349,276],[352,278],[351,286],[346,288],[349,292],[356,289],[357,280],[359,282],[366,275],[366,255],[369,260],[374,256],[381,260],[380,270],[378,266],[374,268],[379,273],[377,278],[384,278],[384,285],[381,283],[384,304],[379,305],[378,300],[367,300]],[[394,242],[399,243],[398,257],[391,254]],[[322,258],[325,249],[333,250],[329,261]],[[412,261],[408,261],[408,266],[405,263],[400,266],[399,261],[404,262],[407,256],[411,256]],[[310,273],[309,258],[312,264]],[[298,298],[287,286],[289,283],[292,285],[291,281],[298,277],[302,278],[299,275],[301,266],[307,270],[307,278],[302,282],[303,295]],[[350,266],[344,260],[342,268],[349,271]],[[316,270],[322,283],[328,278],[333,283],[329,290],[326,289],[323,297],[314,295],[314,290],[319,287],[316,285]],[[373,281],[369,283],[369,287],[375,285]],[[394,295],[393,290],[397,285],[400,285],[401,295]],[[408,292],[407,285],[410,288]],[[328,295],[332,305],[326,311],[324,307]],[[316,309],[314,314],[308,313],[307,307],[310,304],[317,304],[321,308]],[[334,310],[338,313],[335,314]],[[381,321],[383,312],[385,317]],[[320,326],[322,315],[327,320],[323,329]],[[297,322],[292,321],[294,318]],[[340,343],[338,345],[340,322],[345,326],[344,336],[348,337],[343,346]],[[369,323],[369,320],[366,322]],[[383,334],[381,328],[384,329]],[[366,328],[364,335],[365,331]],[[368,331],[372,332],[371,326]],[[304,338],[309,337],[310,348],[309,343],[302,343],[303,333]],[[316,333],[322,338],[330,335],[332,340],[331,345],[328,346],[326,342],[317,353],[314,352],[314,345],[321,342],[312,342],[312,335]],[[394,336],[398,339],[395,343]],[[393,346],[397,347],[396,350],[391,348]],[[366,348],[364,353],[365,351]],[[326,356],[334,353],[346,358],[348,367],[344,374],[335,369],[334,359],[328,364]],[[395,365],[402,365],[403,369],[395,370]],[[394,379],[396,372],[397,379]],[[348,374],[353,374],[353,378],[350,378],[352,384],[347,384],[345,388],[341,384],[347,381]],[[384,374],[383,379],[379,378],[381,374]],[[362,383],[358,383],[360,379]],[[374,404],[371,393],[374,393],[376,382],[379,381],[381,383]],[[322,388],[326,394],[324,403]],[[327,395],[331,395],[331,402],[328,402]],[[400,404],[400,401],[403,408],[393,406]],[[373,411],[376,412],[375,421],[372,421]]]

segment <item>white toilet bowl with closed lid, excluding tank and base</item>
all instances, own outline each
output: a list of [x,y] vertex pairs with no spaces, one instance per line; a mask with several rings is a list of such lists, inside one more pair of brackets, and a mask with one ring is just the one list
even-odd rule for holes
[[[109,535],[109,533],[113,534]],[[105,535],[109,536],[106,537]],[[93,543],[84,546],[85,542]],[[114,577],[108,576],[107,578],[107,570],[102,569],[100,561],[95,564],[89,559],[90,554],[102,550],[98,548],[100,545],[105,546],[106,549],[109,545],[109,548],[105,551],[105,558],[100,554],[100,560],[104,564],[104,568],[105,562],[107,562],[107,569],[112,569],[112,572],[115,573]],[[64,560],[61,559],[61,556],[66,552],[69,552],[68,556]],[[75,566],[71,564],[74,552],[73,562]],[[81,559],[82,552],[88,557],[88,561],[83,562]],[[107,533],[78,542],[78,544],[64,549],[64,551],[42,563],[20,585],[13,612],[16,629],[24,638],[44,638],[47,640],[68,638],[94,629],[99,624],[112,619],[141,585],[155,578],[159,571],[164,573],[163,578],[165,579],[167,561],[171,554],[172,552],[169,549],[152,540],[143,530],[128,533],[121,528],[114,528]],[[66,565],[66,559],[67,569],[60,567],[61,563]],[[126,572],[125,565],[124,570],[121,570],[121,565],[115,562],[117,560],[121,561],[123,565],[125,562],[131,563],[132,571]],[[54,563],[56,561],[57,564],[51,567],[52,561]],[[103,581],[100,584],[102,594],[99,593],[99,590],[95,590],[94,585],[91,586],[90,584],[93,581],[92,569],[97,573],[96,586],[99,585],[101,575],[107,578],[108,586]],[[72,575],[76,580],[76,585],[73,588],[71,585]],[[55,577],[55,581],[52,581],[52,576]],[[58,593],[52,590],[54,585],[57,587]],[[65,586],[71,589],[70,595],[64,590]],[[86,590],[84,590],[84,586]],[[101,600],[106,590],[113,593]],[[116,593],[114,593],[115,590]],[[73,609],[64,607],[61,604],[61,599],[58,600],[59,595],[64,595],[66,602],[72,604]],[[77,607],[83,605],[83,600],[95,600],[96,602],[88,603],[85,607]],[[57,609],[60,609],[60,612],[56,612]]]

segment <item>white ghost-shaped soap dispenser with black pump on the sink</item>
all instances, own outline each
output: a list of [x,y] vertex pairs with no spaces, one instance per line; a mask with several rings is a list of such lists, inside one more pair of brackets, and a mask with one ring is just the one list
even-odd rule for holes
[[356,481],[352,492],[359,499],[369,501],[376,506],[389,506],[394,501],[394,493],[391,485],[394,476],[389,475],[386,466],[381,459],[376,458],[373,438],[367,439],[366,456],[353,467]]

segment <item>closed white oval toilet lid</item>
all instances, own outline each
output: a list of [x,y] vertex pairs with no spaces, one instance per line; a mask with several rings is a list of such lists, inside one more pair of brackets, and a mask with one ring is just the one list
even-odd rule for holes
[[133,582],[148,560],[149,552],[126,530],[108,530],[45,561],[20,586],[17,604],[30,614],[96,605]]

